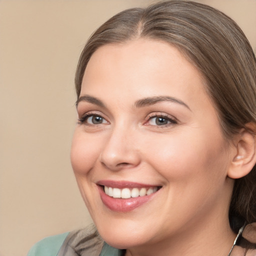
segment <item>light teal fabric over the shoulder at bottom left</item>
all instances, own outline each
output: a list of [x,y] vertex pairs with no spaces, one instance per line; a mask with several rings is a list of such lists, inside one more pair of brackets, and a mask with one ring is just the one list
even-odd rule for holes
[[35,243],[27,256],[55,256],[63,244],[68,232],[43,238]]

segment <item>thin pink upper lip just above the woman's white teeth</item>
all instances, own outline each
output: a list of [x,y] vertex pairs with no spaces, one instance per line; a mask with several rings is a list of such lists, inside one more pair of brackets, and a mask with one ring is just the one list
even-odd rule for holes
[[144,183],[138,183],[138,182],[132,182],[132,181],[126,181],[126,180],[99,180],[96,182],[98,185],[102,186],[110,186],[110,187],[116,187],[116,188],[129,188],[129,187],[155,187],[160,185],[154,185],[154,184],[144,184]]

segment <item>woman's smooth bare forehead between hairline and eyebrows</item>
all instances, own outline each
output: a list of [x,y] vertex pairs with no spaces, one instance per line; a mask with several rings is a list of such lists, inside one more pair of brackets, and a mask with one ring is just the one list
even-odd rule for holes
[[180,86],[182,83],[187,89],[192,80],[203,84],[200,72],[176,47],[162,41],[137,39],[99,47],[88,61],[82,90],[89,89],[91,83],[94,88],[101,85],[102,89],[106,84],[119,84],[122,89],[135,86],[137,92],[143,84],[149,89],[152,83],[158,88],[165,85],[172,89],[175,89],[174,84]]

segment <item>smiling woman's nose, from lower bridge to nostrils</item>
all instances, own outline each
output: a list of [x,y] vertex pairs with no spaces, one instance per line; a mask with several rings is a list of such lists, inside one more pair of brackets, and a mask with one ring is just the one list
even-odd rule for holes
[[140,163],[140,155],[132,131],[113,130],[107,138],[99,160],[110,170],[137,166]]

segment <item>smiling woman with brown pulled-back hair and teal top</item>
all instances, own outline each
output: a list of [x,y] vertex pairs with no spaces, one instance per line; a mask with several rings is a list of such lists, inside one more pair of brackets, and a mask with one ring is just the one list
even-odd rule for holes
[[124,10],[87,41],[71,163],[95,223],[29,255],[256,255],[256,61],[207,5]]

